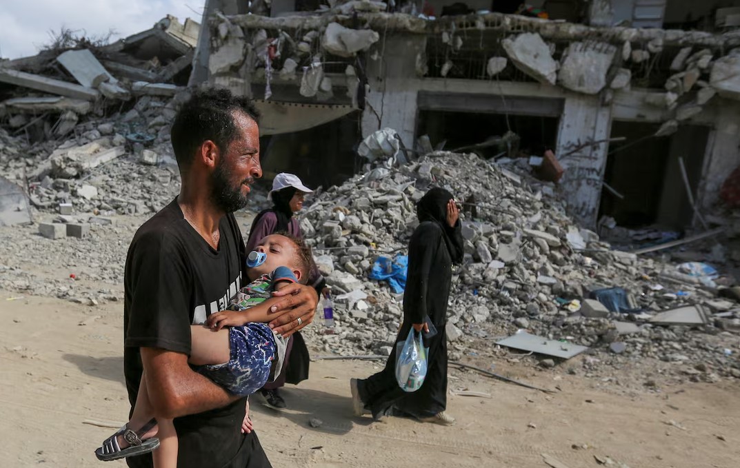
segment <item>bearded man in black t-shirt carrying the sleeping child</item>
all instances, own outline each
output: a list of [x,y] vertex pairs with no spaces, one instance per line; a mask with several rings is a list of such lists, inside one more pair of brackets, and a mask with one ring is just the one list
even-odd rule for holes
[[[181,174],[175,200],[139,228],[124,275],[124,374],[132,408],[142,373],[153,416],[174,419],[178,467],[269,467],[246,424],[246,398],[195,372],[191,325],[226,309],[249,280],[244,242],[233,212],[246,206],[261,177],[258,112],[225,89],[196,91],[172,124]],[[283,336],[314,316],[313,288],[292,284],[255,306]],[[129,467],[152,467],[149,455]]]

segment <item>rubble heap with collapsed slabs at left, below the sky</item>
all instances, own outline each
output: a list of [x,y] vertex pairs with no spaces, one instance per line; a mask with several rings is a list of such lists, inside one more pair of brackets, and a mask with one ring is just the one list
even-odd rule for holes
[[[180,187],[169,124],[199,30],[168,16],[113,44],[63,36],[36,56],[0,61],[0,172],[4,186],[28,194],[16,211],[149,214],[169,203]],[[64,235],[56,228],[41,233]]]

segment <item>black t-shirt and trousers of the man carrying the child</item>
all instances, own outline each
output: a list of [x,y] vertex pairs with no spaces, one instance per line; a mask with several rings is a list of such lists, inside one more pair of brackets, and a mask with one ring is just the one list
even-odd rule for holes
[[[185,220],[177,199],[136,232],[124,275],[124,374],[129,401],[141,382],[139,347],[190,353],[190,325],[223,311],[246,278],[244,241],[235,217],[219,225],[218,249]],[[269,467],[255,433],[240,432],[244,399],[175,419],[178,467]],[[151,456],[127,458],[129,467],[152,467]]]

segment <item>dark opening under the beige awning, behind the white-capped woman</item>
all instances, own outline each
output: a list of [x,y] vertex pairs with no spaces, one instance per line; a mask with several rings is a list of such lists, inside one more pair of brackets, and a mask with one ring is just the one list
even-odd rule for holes
[[290,172],[312,189],[341,185],[356,172],[361,111],[299,132],[260,137],[263,179]]

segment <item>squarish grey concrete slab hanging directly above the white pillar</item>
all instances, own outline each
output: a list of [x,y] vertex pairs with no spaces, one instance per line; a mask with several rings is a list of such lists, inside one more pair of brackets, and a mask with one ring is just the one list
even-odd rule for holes
[[557,75],[562,87],[589,95],[604,89],[616,47],[600,42],[573,42],[564,54]]

